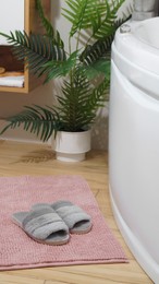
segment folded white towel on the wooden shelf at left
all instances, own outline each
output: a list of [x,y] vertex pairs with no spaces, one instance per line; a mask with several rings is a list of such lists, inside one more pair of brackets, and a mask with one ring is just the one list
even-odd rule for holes
[[23,87],[24,86],[24,75],[2,76],[2,78],[0,78],[0,85],[1,86]]

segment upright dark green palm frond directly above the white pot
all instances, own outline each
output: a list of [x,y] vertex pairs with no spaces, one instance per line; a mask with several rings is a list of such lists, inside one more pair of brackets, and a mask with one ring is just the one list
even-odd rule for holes
[[59,111],[65,131],[80,131],[90,127],[98,107],[103,106],[109,81],[103,80],[97,87],[90,87],[85,76],[76,70],[74,81],[64,82],[63,97],[59,96]]

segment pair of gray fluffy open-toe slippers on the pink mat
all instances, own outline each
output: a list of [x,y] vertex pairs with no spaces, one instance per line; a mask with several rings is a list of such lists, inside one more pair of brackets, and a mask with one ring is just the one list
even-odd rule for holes
[[12,215],[30,238],[47,245],[64,245],[71,234],[86,234],[91,229],[91,217],[70,201],[52,204],[34,204],[29,212],[16,212]]

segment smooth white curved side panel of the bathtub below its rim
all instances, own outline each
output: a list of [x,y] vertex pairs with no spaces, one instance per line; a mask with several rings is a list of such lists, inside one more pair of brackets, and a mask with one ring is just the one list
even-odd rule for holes
[[111,194],[124,222],[159,263],[159,102],[112,62],[109,115]]

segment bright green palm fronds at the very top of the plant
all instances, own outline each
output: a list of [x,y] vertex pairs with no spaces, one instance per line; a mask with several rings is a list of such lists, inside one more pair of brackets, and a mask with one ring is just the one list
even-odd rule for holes
[[72,23],[70,35],[90,28],[91,37],[101,39],[111,35],[117,12],[125,0],[66,0],[70,9],[63,15]]

